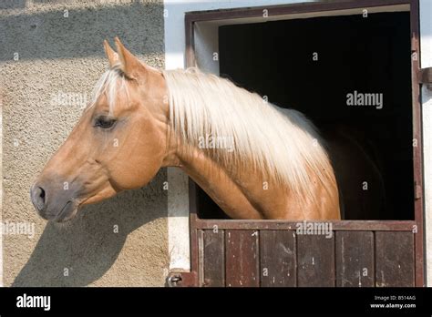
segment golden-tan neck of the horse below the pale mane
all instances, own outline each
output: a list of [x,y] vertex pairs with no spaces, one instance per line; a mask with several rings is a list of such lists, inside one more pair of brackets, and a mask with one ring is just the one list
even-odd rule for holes
[[[298,199],[286,185],[240,160],[225,163],[214,153],[171,136],[164,166],[178,167],[190,176],[232,219],[338,219],[334,177],[321,184],[311,174],[314,196]],[[264,184],[268,189],[263,190]],[[316,197],[324,200],[316,205]],[[324,201],[324,202],[323,202]]]

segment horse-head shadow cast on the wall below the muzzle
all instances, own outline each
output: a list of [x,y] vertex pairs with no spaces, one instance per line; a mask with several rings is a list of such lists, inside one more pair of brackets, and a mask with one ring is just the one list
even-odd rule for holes
[[[129,233],[161,217],[160,200],[167,201],[163,179],[166,169],[161,169],[147,187],[89,205],[70,222],[48,222],[12,286],[87,286],[98,280],[118,258]],[[145,206],[132,205],[143,197]]]

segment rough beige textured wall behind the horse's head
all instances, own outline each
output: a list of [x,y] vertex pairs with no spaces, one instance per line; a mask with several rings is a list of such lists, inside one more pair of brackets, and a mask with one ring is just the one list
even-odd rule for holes
[[[146,188],[84,208],[67,224],[46,223],[29,199],[37,174],[79,118],[80,98],[89,99],[108,66],[102,41],[114,36],[149,65],[163,67],[163,5],[155,1],[0,3],[3,221],[36,229],[31,239],[4,235],[5,286],[164,283],[165,170]],[[59,94],[77,98],[62,102]]]

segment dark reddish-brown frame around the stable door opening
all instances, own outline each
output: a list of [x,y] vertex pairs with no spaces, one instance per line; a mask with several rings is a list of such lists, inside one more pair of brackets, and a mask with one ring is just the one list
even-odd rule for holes
[[[185,15],[186,66],[195,66],[194,24],[203,21],[215,21],[245,17],[262,17],[262,10],[268,16],[295,15],[302,13],[319,13],[345,9],[361,9],[365,7],[410,5],[411,21],[411,74],[413,100],[413,138],[417,139],[417,147],[413,147],[414,184],[415,186],[415,220],[338,220],[332,221],[335,230],[417,230],[414,239],[415,285],[425,286],[425,232],[424,232],[424,186],[422,166],[422,119],[420,103],[420,48],[419,48],[419,0],[356,0],[335,3],[300,3],[290,5],[269,5],[252,8],[235,8],[212,11],[189,12]],[[191,284],[199,284],[198,270],[201,255],[199,254],[199,229],[212,229],[217,224],[219,229],[266,229],[283,230],[295,228],[293,221],[281,220],[201,220],[198,218],[197,187],[193,180],[189,181],[190,192],[190,271]],[[183,274],[184,275],[184,274]],[[185,281],[186,286],[186,281]]]

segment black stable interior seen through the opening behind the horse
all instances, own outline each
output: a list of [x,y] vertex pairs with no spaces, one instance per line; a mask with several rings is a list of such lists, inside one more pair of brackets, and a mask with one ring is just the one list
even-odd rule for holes
[[[408,12],[220,26],[219,47],[221,77],[302,111],[323,133],[355,134],[386,189],[383,210],[367,219],[414,219]],[[383,107],[348,107],[355,91],[382,94]],[[198,207],[200,218],[227,218],[201,189]]]

